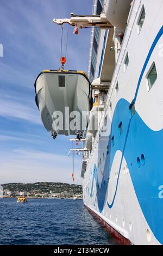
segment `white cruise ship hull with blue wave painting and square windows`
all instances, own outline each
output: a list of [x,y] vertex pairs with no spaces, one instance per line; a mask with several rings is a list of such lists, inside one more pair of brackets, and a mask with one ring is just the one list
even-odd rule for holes
[[[134,245],[163,244],[162,13],[162,0],[133,1],[83,178],[85,206]],[[99,52],[100,46],[94,78]],[[106,112],[108,136],[103,134]]]

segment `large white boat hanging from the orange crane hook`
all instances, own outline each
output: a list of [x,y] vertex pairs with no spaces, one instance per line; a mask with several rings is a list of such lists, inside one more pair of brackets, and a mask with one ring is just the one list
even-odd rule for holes
[[92,108],[92,88],[85,72],[43,70],[36,78],[35,92],[42,123],[52,137],[81,139]]

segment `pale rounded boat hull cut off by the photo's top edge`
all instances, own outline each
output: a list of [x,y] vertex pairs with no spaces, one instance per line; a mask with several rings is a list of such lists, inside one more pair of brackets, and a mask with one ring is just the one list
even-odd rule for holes
[[116,28],[126,28],[131,0],[105,0],[104,13],[108,21]]

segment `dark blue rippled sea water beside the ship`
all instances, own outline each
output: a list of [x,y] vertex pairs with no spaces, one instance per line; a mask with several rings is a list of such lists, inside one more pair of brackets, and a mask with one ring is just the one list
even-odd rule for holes
[[0,199],[1,245],[118,245],[82,200]]

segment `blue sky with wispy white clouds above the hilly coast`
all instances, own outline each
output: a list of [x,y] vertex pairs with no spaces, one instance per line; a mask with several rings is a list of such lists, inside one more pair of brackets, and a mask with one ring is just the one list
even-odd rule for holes
[[[35,78],[60,66],[61,28],[54,17],[91,14],[92,0],[1,0],[0,44],[0,183],[68,182],[68,137],[53,140],[35,105]],[[66,25],[64,40],[66,41]],[[90,29],[74,35],[70,27],[66,69],[87,72]],[[64,42],[65,42],[64,41]],[[75,181],[82,183],[82,159],[76,156]]]

